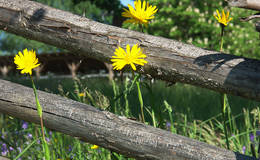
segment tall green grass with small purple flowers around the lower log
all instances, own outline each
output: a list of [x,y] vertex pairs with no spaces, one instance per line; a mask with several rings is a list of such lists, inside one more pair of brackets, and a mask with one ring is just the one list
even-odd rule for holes
[[[30,86],[27,80],[11,80]],[[109,82],[106,79],[47,79],[36,81],[36,85],[41,90],[91,104],[118,115],[139,119],[137,89],[129,89],[129,78],[123,82]],[[161,81],[153,84],[144,81],[141,88],[146,123],[215,146],[226,147],[219,93],[183,84],[167,87]],[[124,92],[126,90],[129,92]],[[256,131],[260,118],[259,103],[234,96],[228,96],[228,102],[225,123],[230,149],[247,155],[252,155],[255,150],[258,156],[259,138]],[[19,158],[19,154],[20,159],[43,157],[39,144],[39,126],[25,124],[27,122],[7,115],[0,116],[0,148],[3,156],[11,159]],[[48,130],[46,137],[51,159],[128,159],[103,148],[91,149],[91,144],[59,132]]]

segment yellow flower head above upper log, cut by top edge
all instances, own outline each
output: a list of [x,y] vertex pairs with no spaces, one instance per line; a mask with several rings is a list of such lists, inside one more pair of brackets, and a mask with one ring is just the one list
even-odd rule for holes
[[124,23],[134,23],[134,24],[145,24],[147,25],[148,20],[154,18],[154,14],[157,12],[156,6],[151,6],[149,3],[144,0],[143,5],[141,0],[134,2],[135,8],[128,4],[129,10],[124,8],[122,13],[123,17],[127,17]]

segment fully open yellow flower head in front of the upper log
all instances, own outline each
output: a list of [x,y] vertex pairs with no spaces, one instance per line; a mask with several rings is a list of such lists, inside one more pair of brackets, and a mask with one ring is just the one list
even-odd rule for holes
[[115,56],[112,56],[111,61],[113,62],[113,66],[115,70],[122,70],[125,65],[130,64],[133,70],[136,70],[135,64],[143,66],[147,63],[144,58],[146,55],[142,53],[141,48],[135,44],[132,49],[129,44],[126,46],[126,51],[121,47],[118,47],[115,52]]

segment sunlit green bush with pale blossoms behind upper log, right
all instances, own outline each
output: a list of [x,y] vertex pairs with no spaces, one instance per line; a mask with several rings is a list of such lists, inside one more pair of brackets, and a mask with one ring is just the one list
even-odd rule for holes
[[[216,9],[230,11],[233,20],[225,28],[224,52],[239,56],[260,58],[258,32],[253,22],[240,22],[240,17],[255,12],[228,8],[224,1],[206,0],[150,0],[159,9],[146,32],[179,40],[198,47],[219,51],[221,27],[213,16]],[[130,24],[126,28],[137,29]]]

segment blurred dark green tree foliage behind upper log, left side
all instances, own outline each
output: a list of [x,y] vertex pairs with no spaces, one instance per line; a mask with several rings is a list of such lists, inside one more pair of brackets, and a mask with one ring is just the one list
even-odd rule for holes
[[[58,8],[61,10],[69,11],[74,14],[85,16],[92,20],[112,24],[121,25],[122,20],[115,20],[119,14],[121,14],[121,8],[119,0],[34,0],[48,6]],[[114,18],[114,19],[113,19]],[[57,52],[63,51],[56,47],[46,45],[33,40],[28,40],[14,34],[0,32],[0,54],[15,54],[19,50],[24,48],[35,49],[38,52]]]

